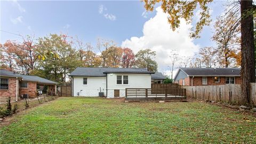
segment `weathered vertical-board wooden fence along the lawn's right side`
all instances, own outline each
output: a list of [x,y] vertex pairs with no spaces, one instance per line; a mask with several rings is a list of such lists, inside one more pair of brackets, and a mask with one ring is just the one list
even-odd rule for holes
[[[236,104],[241,103],[240,84],[180,86],[180,88],[186,89],[187,97],[189,98]],[[250,94],[251,103],[256,105],[256,83],[250,84]]]

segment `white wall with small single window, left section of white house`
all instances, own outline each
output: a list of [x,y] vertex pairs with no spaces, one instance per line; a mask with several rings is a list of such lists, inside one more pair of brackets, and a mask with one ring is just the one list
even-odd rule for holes
[[106,77],[87,77],[87,85],[83,85],[83,78],[74,77],[74,97],[81,90],[83,91],[80,92],[79,96],[97,97],[99,96],[100,87],[101,92],[106,95]]

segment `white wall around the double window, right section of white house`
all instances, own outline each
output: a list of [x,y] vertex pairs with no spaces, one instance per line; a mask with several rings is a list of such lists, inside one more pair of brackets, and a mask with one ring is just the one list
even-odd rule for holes
[[[117,75],[127,75],[128,85],[116,84]],[[120,91],[120,97],[125,97],[125,88],[151,88],[150,74],[107,74],[108,79],[108,98],[114,98],[114,90]]]

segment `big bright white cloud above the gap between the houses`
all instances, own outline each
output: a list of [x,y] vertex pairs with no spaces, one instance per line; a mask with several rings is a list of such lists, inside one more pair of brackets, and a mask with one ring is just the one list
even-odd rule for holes
[[181,19],[180,27],[172,31],[167,14],[161,7],[157,7],[155,17],[150,18],[143,26],[143,36],[125,39],[122,47],[130,47],[135,53],[141,49],[156,51],[158,70],[165,72],[170,70],[167,66],[171,64],[169,55],[172,50],[176,50],[181,56],[192,56],[198,51],[199,46],[189,37],[190,28],[191,24]]

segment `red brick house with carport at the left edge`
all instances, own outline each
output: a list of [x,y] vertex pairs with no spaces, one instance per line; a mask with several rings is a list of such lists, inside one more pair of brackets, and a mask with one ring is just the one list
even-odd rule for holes
[[47,91],[56,94],[57,83],[48,79],[15,74],[13,71],[0,70],[0,102],[5,102],[7,97],[11,97],[11,101],[18,101],[23,94],[28,94],[29,98],[35,98],[35,91],[43,89],[47,86]]

